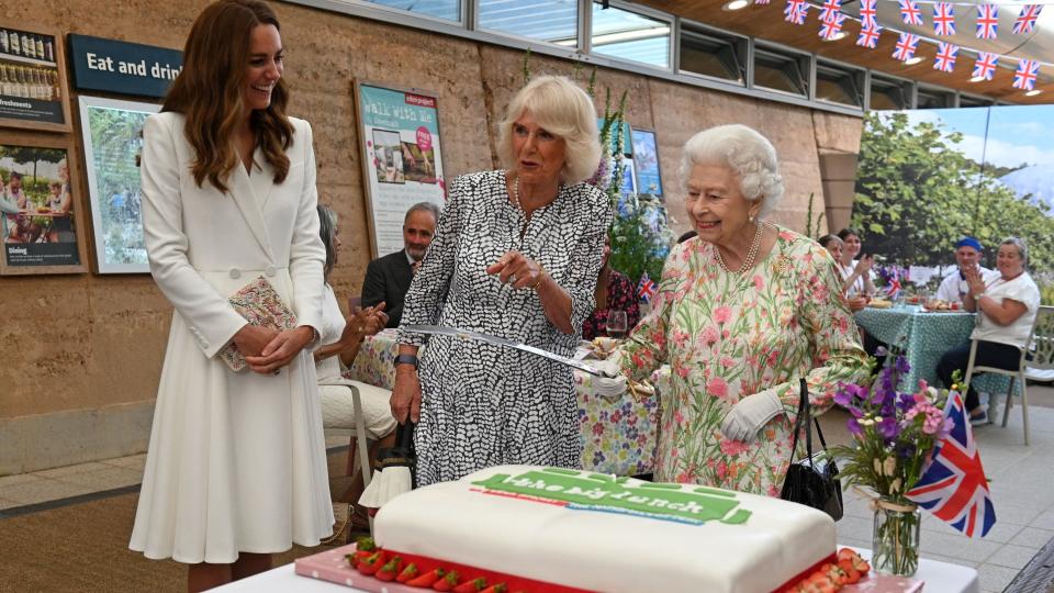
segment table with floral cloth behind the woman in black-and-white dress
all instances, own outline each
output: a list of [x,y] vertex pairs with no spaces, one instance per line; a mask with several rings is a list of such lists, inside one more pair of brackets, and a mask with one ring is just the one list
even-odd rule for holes
[[[391,390],[395,383],[395,332],[385,329],[368,337],[345,376]],[[616,400],[596,394],[593,377],[574,371],[582,434],[582,467],[616,475],[654,471],[659,396],[638,401],[629,393]]]

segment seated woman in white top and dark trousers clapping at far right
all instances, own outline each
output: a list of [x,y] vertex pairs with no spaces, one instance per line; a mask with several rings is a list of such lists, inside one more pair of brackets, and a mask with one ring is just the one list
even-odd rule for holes
[[[977,312],[977,327],[971,339],[979,339],[974,365],[1014,370],[1021,361],[1021,348],[1029,339],[1040,307],[1040,289],[1024,271],[1029,250],[1024,242],[1010,237],[999,245],[996,269],[999,275],[985,277],[976,268],[964,270],[969,291],[963,299],[967,311]],[[952,384],[952,373],[965,373],[969,362],[969,343],[953,348],[941,357],[937,374],[945,385]],[[980,405],[977,392],[971,385],[966,392],[966,409],[972,424],[988,422],[988,409]]]

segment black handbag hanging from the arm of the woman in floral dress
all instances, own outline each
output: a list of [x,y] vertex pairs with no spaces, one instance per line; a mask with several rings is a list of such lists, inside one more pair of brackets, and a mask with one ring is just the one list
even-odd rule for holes
[[798,434],[805,424],[806,457],[792,461],[787,469],[787,478],[783,482],[780,497],[796,502],[812,508],[823,511],[834,521],[842,518],[842,484],[838,480],[838,467],[834,460],[827,456],[827,443],[820,423],[814,418],[816,434],[820,437],[823,449],[812,455],[812,427],[809,423],[809,389],[801,379],[801,401],[798,404],[798,419],[794,423],[794,447],[790,449],[792,459],[798,450]]

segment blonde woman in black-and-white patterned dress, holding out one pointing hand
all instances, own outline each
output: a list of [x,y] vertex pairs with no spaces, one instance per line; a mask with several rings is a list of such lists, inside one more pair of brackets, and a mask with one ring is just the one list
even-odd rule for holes
[[532,355],[426,336],[438,324],[562,355],[593,311],[606,197],[582,183],[599,160],[588,96],[565,78],[522,89],[501,127],[507,170],[458,177],[399,333],[392,413],[417,422],[417,482],[456,480],[500,463],[575,468],[582,444],[571,369]]

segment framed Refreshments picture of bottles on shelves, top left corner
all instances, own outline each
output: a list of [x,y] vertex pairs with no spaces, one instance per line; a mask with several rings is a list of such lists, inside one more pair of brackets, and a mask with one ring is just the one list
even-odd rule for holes
[[0,21],[0,126],[69,132],[67,97],[61,35]]

